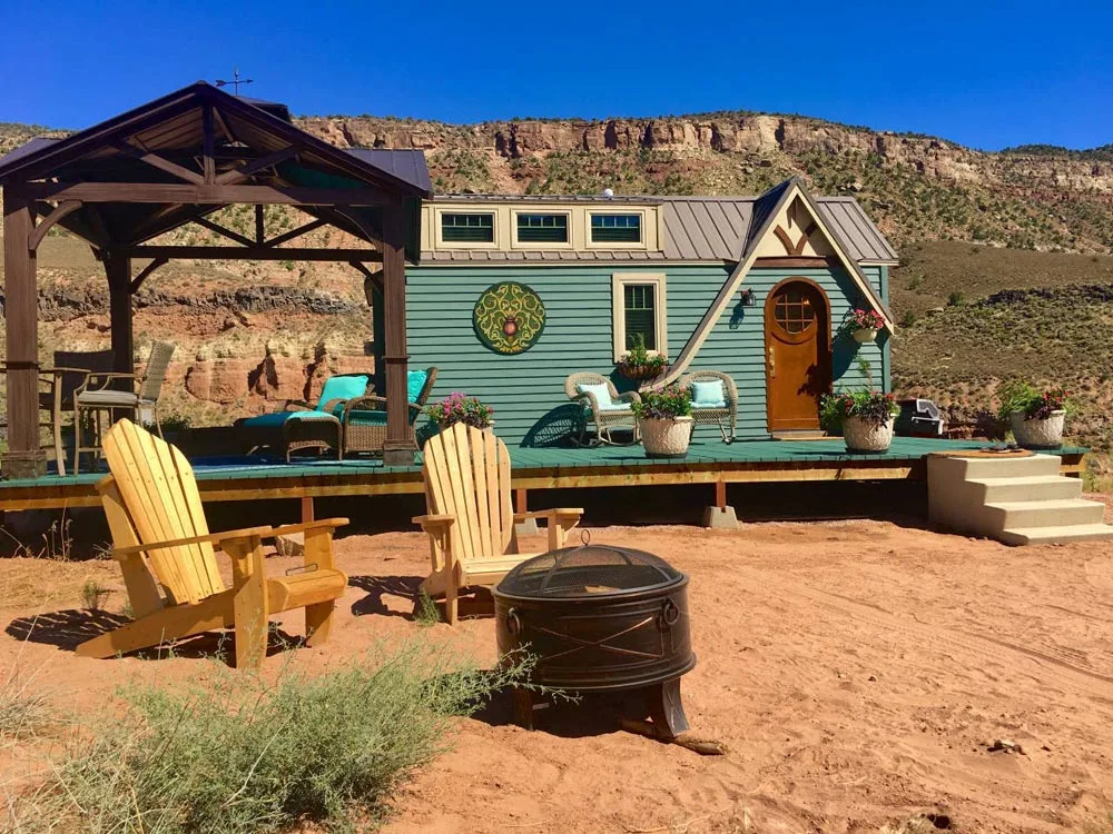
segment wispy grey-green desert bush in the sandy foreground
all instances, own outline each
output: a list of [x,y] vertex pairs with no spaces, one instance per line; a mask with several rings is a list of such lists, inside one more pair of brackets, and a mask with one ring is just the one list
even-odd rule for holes
[[447,746],[450,724],[521,683],[413,642],[274,683],[218,667],[208,686],[120,692],[91,741],[31,797],[27,831],[253,834],[374,825],[391,791]]

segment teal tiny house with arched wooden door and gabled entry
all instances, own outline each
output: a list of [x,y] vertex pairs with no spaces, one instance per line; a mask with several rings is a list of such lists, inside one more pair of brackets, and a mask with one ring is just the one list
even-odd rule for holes
[[[729,374],[739,439],[816,431],[824,393],[889,389],[897,256],[853,198],[795,178],[759,197],[444,195],[420,221],[410,364],[492,405],[509,444],[572,430],[572,373],[637,387],[615,364],[640,344],[669,359],[658,381]],[[876,340],[840,335],[854,309],[881,316]]]

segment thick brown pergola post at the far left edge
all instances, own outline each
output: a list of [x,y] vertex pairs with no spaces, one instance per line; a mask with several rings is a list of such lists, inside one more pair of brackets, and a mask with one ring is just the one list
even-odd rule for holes
[[7,318],[9,478],[42,475],[46,454],[39,441],[39,290],[31,249],[31,203],[13,188],[3,195],[4,316]]

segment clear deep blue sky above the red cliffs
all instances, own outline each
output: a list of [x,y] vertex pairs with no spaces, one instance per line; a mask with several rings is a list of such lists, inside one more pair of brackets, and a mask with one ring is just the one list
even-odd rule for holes
[[1113,142],[1113,4],[7,0],[0,121],[80,128],[234,67],[295,113],[798,112]]

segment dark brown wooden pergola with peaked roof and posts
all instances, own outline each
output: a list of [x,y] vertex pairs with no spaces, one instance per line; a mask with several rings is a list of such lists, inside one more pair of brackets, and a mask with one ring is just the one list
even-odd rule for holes
[[[0,159],[8,338],[9,477],[41,474],[36,252],[55,226],[92,247],[108,279],[114,369],[131,371],[132,296],[174,258],[351,264],[373,290],[376,364],[385,366],[385,463],[413,461],[407,419],[405,260],[416,257],[421,199],[431,196],[420,152],[343,150],[298,129],[282,105],[239,99],[198,82],[61,140],[35,139]],[[210,219],[255,207],[255,234]],[[294,206],[313,220],[268,237],[264,206]],[[226,246],[149,241],[198,224]],[[332,226],[367,244],[297,247]],[[147,264],[137,274],[136,261]],[[373,268],[368,265],[382,265]],[[372,295],[372,294],[368,294]],[[378,304],[381,302],[381,305]],[[376,366],[383,378],[382,366]]]

